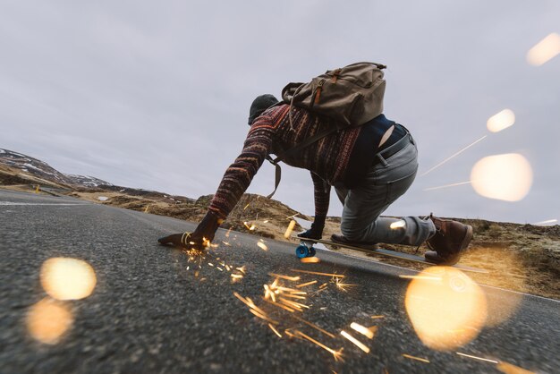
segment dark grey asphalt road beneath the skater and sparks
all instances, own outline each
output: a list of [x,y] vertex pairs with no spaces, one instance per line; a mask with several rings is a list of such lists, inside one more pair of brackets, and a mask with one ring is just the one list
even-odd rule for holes
[[[560,372],[560,302],[482,287],[490,316],[511,315],[483,327],[471,343],[440,352],[420,342],[404,308],[410,279],[399,275],[417,273],[337,253],[322,252],[320,263],[302,264],[289,243],[266,240],[264,251],[257,237],[226,237],[225,230],[215,242],[231,246],[213,250],[202,268],[182,251],[157,245],[159,236],[192,228],[180,220],[81,200],[0,191],[0,372],[500,372],[496,363],[457,352]],[[58,343],[44,344],[31,336],[28,314],[47,297],[39,282],[41,265],[56,257],[87,261],[97,285],[89,297],[64,302],[72,326]],[[231,274],[240,274],[233,268],[242,266],[245,276],[232,283]],[[233,295],[269,307],[261,301],[263,285],[273,280],[268,273],[297,275],[293,269],[344,274],[344,282],[354,285],[344,292],[330,277],[300,274],[301,282],[318,283],[306,287],[315,290],[305,301],[310,310],[296,314],[334,338],[279,311],[280,338]],[[378,315],[384,318],[371,319]],[[376,336],[360,336],[349,327],[352,322],[377,325]],[[335,361],[317,344],[286,336],[286,327],[329,347],[344,347],[344,361]],[[344,339],[343,329],[370,353]]]

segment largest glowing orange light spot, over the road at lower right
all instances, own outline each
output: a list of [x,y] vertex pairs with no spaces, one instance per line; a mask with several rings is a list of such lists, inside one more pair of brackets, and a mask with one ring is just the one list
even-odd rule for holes
[[470,343],[487,318],[479,285],[455,268],[427,268],[420,276],[408,286],[405,307],[422,343],[439,351]]

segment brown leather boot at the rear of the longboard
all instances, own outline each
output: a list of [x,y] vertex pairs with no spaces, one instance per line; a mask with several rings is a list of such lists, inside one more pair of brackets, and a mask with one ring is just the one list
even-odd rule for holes
[[436,225],[436,234],[426,241],[428,248],[424,257],[437,265],[454,265],[461,259],[472,239],[472,226],[463,225],[451,219],[442,219],[429,215]]

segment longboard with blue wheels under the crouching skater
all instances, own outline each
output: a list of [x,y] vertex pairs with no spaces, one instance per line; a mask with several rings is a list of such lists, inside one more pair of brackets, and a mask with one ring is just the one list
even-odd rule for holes
[[[431,265],[431,266],[436,266],[437,264],[434,264],[433,262],[429,262],[426,259],[424,259],[423,257],[420,256],[416,256],[410,253],[403,253],[403,252],[397,252],[397,251],[390,251],[390,250],[385,250],[385,249],[381,249],[381,248],[377,248],[377,245],[371,245],[371,246],[357,246],[357,245],[351,245],[351,244],[342,244],[339,242],[331,242],[331,241],[326,241],[323,239],[304,239],[304,238],[300,238],[298,236],[293,236],[294,239],[297,239],[300,241],[300,245],[298,245],[298,247],[295,249],[295,254],[299,259],[305,258],[305,257],[313,257],[315,256],[317,249],[315,247],[313,247],[314,244],[320,242],[321,244],[327,244],[327,245],[332,245],[335,247],[342,247],[342,248],[346,248],[352,251],[361,251],[363,253],[374,253],[374,254],[378,254],[378,255],[382,255],[382,256],[387,256],[387,257],[392,257],[395,259],[404,259],[407,261],[414,261],[414,262],[420,262],[422,264],[426,264],[426,265]],[[318,250],[320,251],[324,251],[320,248],[318,248]],[[458,268],[460,270],[463,271],[471,271],[473,273],[488,273],[488,270],[485,270],[483,268],[471,268],[468,267],[466,265],[459,265],[459,264],[455,264],[452,266],[452,268]]]

